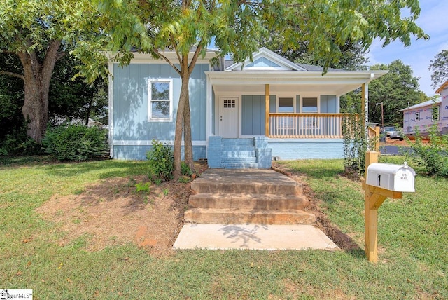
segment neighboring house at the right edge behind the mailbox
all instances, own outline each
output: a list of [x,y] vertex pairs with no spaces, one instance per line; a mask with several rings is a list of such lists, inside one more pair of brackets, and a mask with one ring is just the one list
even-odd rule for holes
[[448,133],[448,81],[435,93],[440,93],[439,100],[428,100],[400,110],[403,112],[403,131],[408,137],[416,135],[416,132],[427,136],[433,124],[442,134]]

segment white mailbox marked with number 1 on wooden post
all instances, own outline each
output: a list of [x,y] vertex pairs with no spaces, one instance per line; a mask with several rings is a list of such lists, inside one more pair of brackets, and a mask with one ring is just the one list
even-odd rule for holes
[[367,168],[366,184],[390,191],[414,192],[415,171],[407,163],[372,163]]

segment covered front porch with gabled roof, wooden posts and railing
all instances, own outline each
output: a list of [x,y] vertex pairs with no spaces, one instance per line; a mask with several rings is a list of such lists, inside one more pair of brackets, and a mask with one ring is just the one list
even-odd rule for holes
[[[217,151],[215,139],[253,138],[263,138],[274,158],[342,158],[344,123],[354,117],[367,128],[369,83],[386,72],[323,74],[322,67],[295,64],[265,48],[252,61],[207,71],[207,158]],[[362,113],[342,114],[340,97],[358,88]]]

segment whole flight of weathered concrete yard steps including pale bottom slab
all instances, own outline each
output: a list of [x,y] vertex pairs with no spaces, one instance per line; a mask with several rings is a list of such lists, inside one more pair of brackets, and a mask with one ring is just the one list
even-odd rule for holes
[[[206,220],[204,218],[192,219],[191,216],[189,218],[187,211],[186,219],[192,219],[193,224],[183,226],[174,243],[174,249],[339,249],[330,238],[325,236],[325,233],[310,225],[314,221],[300,223],[300,219],[283,218],[279,219],[287,221],[283,224],[266,222],[273,212],[283,211],[286,214],[297,214],[297,209],[300,210],[300,208],[295,205],[303,201],[300,198],[302,186],[279,172],[257,169],[209,169],[202,173],[202,177],[192,182],[192,189],[199,194],[190,196],[190,206],[196,205],[199,201],[197,197],[201,193],[205,193],[207,198],[200,198],[201,201],[199,201],[202,206],[212,205],[220,208],[218,210],[228,210],[229,215],[224,218],[227,221],[221,221],[216,216],[211,219],[206,218],[207,221],[204,221]],[[285,198],[283,199],[282,196]],[[248,214],[251,214],[251,217],[248,218],[250,221],[246,220],[251,224],[246,224],[246,221],[241,220],[235,222],[235,219],[230,217],[237,212],[244,212],[245,209]],[[203,210],[204,212],[210,210],[209,206]],[[267,211],[265,211],[264,217],[257,219],[253,214],[259,210]],[[191,212],[190,209],[189,213],[191,214]],[[311,213],[303,211],[302,214]],[[314,214],[311,215],[315,220]],[[239,224],[239,222],[244,224]]]

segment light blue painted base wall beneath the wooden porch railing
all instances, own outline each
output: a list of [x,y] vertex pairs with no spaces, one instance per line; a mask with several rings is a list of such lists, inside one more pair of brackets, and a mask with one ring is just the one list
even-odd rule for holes
[[344,158],[343,139],[269,139],[272,157],[281,160]]

